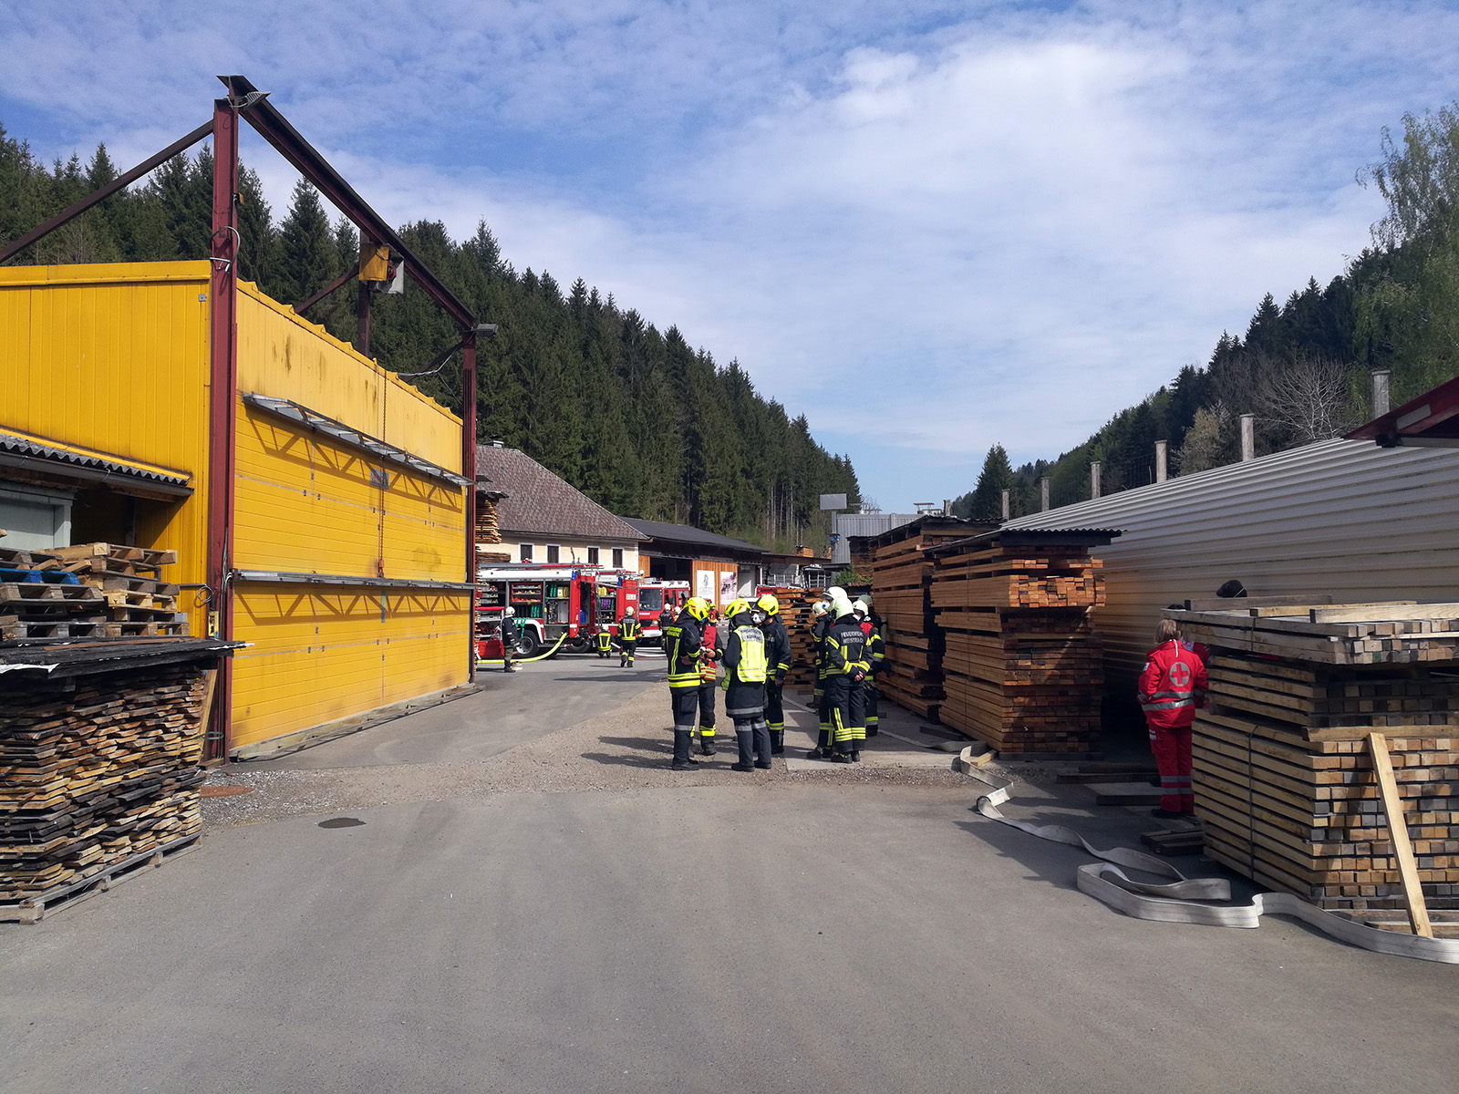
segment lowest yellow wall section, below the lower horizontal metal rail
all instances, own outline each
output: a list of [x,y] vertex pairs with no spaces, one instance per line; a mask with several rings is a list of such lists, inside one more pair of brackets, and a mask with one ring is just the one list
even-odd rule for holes
[[233,745],[467,680],[465,592],[235,586]]

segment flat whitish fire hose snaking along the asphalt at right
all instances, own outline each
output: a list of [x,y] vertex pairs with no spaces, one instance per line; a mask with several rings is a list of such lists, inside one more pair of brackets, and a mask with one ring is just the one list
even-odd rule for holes
[[[1123,912],[1132,919],[1156,919],[1166,923],[1196,923],[1199,926],[1261,926],[1263,915],[1294,916],[1341,942],[1379,954],[1414,957],[1420,961],[1459,964],[1459,939],[1423,938],[1395,931],[1383,931],[1345,919],[1334,912],[1310,904],[1290,893],[1258,893],[1249,904],[1196,904],[1195,900],[1230,900],[1231,884],[1224,878],[1188,878],[1169,862],[1131,847],[1100,850],[1062,824],[1029,824],[1005,817],[998,807],[1008,801],[1013,779],[999,779],[972,763],[972,745],[959,757],[959,769],[994,789],[978,799],[978,812],[999,824],[1027,831],[1053,843],[1081,847],[1102,862],[1080,866],[1075,875],[1078,890],[1085,896]],[[1128,877],[1121,866],[1139,869],[1156,877],[1174,878],[1166,884],[1148,884]]]

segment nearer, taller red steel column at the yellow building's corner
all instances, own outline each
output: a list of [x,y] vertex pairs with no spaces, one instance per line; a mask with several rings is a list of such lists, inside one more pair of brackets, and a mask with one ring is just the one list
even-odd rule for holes
[[[233,401],[238,391],[238,111],[228,99],[213,102],[213,248],[212,333],[207,398],[207,588],[209,630],[233,636]],[[228,756],[232,744],[233,659],[222,658],[214,690],[207,756]]]

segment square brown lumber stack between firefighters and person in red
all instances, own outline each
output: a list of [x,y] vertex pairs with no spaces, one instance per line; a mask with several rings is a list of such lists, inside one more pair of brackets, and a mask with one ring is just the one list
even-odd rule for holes
[[1090,611],[1104,602],[1100,566],[1083,546],[980,538],[938,551],[938,719],[1005,756],[1097,751],[1104,659]]

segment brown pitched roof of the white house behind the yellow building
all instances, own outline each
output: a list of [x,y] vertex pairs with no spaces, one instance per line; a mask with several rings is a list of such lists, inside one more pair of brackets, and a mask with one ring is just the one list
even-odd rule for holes
[[479,481],[486,480],[506,494],[496,503],[502,531],[630,543],[643,538],[630,524],[515,448],[477,445],[476,474]]

